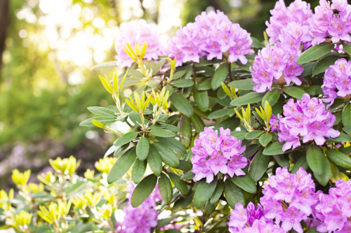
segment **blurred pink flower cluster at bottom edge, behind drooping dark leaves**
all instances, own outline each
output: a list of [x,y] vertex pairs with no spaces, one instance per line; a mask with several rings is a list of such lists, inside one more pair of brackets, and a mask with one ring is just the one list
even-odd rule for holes
[[117,221],[116,229],[119,230],[119,233],[150,233],[151,228],[157,226],[157,216],[159,216],[159,212],[155,210],[155,207],[156,202],[161,200],[159,188],[156,186],[154,192],[147,197],[145,202],[136,208],[131,205],[131,195],[134,188],[135,185],[131,183],[127,195],[128,206],[124,208],[124,220],[120,222]]

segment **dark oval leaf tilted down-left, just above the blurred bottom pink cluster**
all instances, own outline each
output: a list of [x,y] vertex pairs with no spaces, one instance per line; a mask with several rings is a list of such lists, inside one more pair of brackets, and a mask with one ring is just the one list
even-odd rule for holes
[[136,208],[143,204],[143,202],[154,190],[156,183],[157,176],[154,174],[150,174],[149,176],[143,178],[143,181],[140,181],[133,191],[133,194],[131,196],[131,205]]

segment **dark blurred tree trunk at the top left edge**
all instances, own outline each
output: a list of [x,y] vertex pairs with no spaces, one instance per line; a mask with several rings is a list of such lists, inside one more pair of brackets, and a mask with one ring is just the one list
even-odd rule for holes
[[1,83],[1,66],[2,54],[5,50],[5,40],[7,36],[8,25],[10,24],[10,0],[0,0],[0,83]]

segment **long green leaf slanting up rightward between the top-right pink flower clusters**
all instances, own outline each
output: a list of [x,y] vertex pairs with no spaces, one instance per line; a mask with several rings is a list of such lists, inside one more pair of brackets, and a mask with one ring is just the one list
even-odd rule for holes
[[314,59],[318,59],[319,57],[323,57],[328,52],[333,50],[334,44],[333,43],[320,43],[319,45],[314,45],[311,48],[305,50],[303,54],[298,57],[298,64],[304,64],[307,62],[311,62]]

